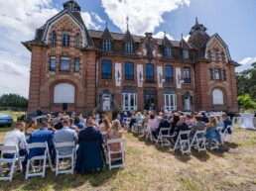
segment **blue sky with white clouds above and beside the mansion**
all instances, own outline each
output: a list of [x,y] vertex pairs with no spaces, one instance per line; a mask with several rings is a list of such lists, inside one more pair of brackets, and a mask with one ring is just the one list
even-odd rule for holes
[[[31,54],[20,42],[34,38],[36,28],[63,9],[66,0],[0,0],[0,95],[28,97]],[[76,0],[88,29],[132,34],[152,32],[162,38],[185,39],[195,17],[209,36],[218,33],[241,71],[256,61],[255,0]]]

